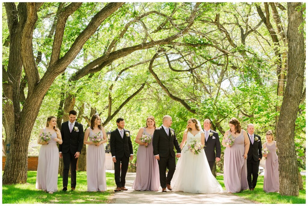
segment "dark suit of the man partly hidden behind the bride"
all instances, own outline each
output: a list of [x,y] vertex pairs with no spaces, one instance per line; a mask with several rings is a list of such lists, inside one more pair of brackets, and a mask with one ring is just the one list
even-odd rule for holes
[[[221,147],[220,147],[220,141],[218,133],[214,130],[210,130],[210,132],[213,133],[213,135],[209,135],[208,141],[206,141],[206,133],[204,133],[204,151],[206,158],[209,162],[209,166],[211,168],[211,171],[213,170],[213,166],[215,164],[216,157],[220,158],[221,155]],[[216,154],[215,154],[216,149]]]

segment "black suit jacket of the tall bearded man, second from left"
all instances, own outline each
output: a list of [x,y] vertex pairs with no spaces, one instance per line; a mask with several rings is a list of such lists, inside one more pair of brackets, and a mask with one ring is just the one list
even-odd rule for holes
[[69,121],[63,122],[61,125],[61,136],[63,143],[59,145],[59,152],[68,153],[71,151],[72,154],[79,152],[81,154],[83,146],[83,126],[79,122],[75,122],[75,126],[78,127],[78,132],[73,130],[70,132]]

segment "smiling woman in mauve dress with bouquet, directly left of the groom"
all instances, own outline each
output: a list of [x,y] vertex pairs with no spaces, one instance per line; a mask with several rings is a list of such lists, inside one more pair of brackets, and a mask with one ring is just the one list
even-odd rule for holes
[[149,116],[146,120],[146,126],[141,127],[136,136],[135,142],[139,144],[139,147],[137,152],[136,178],[132,186],[134,190],[158,191],[159,189],[159,168],[158,162],[153,155],[152,142],[143,143],[140,141],[142,134],[150,135],[153,140],[155,128],[155,119],[153,116]]

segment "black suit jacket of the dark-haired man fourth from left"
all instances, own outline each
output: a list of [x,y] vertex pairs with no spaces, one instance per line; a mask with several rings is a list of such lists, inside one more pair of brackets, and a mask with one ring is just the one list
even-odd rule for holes
[[[128,132],[129,135],[126,135]],[[120,135],[120,132],[117,129],[113,130],[110,134],[110,152],[112,157],[116,158],[130,157],[130,154],[133,154],[133,145],[128,130],[124,129],[123,139]]]

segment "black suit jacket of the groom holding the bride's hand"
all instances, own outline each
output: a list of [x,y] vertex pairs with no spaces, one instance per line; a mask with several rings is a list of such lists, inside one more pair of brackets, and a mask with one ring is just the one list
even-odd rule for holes
[[173,146],[177,153],[181,153],[179,142],[177,142],[176,135],[173,129],[169,127],[169,136],[164,130],[163,126],[155,129],[153,134],[153,154],[159,154],[160,157],[168,157],[169,153],[175,157]]

